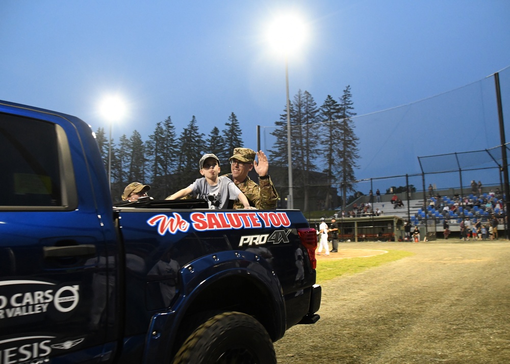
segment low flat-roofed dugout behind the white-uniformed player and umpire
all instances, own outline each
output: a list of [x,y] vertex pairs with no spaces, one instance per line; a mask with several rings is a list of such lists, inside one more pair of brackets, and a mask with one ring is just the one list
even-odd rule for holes
[[[404,238],[404,220],[398,216],[338,217],[339,241],[398,241]],[[325,220],[331,224],[331,218]],[[310,226],[318,229],[320,219],[309,220]]]

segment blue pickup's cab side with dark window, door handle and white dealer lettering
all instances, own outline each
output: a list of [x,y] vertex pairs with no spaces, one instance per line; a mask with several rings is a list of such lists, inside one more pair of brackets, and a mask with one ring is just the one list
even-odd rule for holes
[[0,102],[0,150],[0,362],[108,362],[116,259],[75,127]]

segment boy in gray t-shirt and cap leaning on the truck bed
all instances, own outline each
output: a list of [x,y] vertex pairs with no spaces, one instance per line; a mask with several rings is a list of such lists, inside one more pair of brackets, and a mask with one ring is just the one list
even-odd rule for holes
[[197,178],[191,185],[175,192],[167,197],[167,200],[175,200],[189,194],[197,198],[204,198],[209,203],[209,209],[226,209],[228,200],[242,202],[245,209],[252,209],[248,199],[234,182],[225,176],[219,176],[220,160],[212,153],[204,154],[200,158],[200,174],[203,178]]

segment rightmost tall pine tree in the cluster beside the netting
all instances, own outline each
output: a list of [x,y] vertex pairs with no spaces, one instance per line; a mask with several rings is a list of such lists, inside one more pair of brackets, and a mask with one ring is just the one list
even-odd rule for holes
[[354,191],[354,169],[358,168],[356,160],[360,158],[358,149],[359,138],[354,134],[354,123],[351,120],[351,117],[356,115],[356,113],[352,111],[354,110],[352,105],[353,102],[350,86],[347,86],[340,98],[340,138],[337,149],[339,163],[336,165],[336,171],[338,172],[341,181],[344,208],[347,191]]

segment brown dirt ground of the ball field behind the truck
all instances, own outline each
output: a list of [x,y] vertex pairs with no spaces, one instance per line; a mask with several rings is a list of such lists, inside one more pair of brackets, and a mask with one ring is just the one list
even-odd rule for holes
[[274,344],[279,364],[510,362],[510,242],[339,245],[416,255],[321,283],[321,319]]

